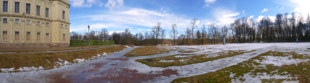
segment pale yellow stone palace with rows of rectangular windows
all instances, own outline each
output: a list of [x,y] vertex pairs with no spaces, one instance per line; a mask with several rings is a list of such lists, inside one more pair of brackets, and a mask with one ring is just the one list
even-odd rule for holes
[[68,0],[0,0],[0,48],[69,47]]

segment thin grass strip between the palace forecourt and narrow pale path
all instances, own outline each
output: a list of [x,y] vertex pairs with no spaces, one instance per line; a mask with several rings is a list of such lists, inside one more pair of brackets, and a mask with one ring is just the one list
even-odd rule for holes
[[82,47],[70,47],[70,48],[55,48],[55,49],[40,49],[40,50],[0,50],[0,52],[38,52],[38,51],[60,51],[60,50],[77,50],[77,49],[89,49],[108,46],[82,46]]

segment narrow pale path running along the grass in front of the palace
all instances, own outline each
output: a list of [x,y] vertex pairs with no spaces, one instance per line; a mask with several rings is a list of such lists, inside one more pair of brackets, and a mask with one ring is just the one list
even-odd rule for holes
[[[107,47],[115,47],[115,46],[107,46]],[[77,49],[77,50],[38,51],[38,52],[0,52],[0,54],[69,52],[69,51],[80,51],[80,50],[100,49],[100,48],[107,48],[107,47],[88,48],[88,49]]]

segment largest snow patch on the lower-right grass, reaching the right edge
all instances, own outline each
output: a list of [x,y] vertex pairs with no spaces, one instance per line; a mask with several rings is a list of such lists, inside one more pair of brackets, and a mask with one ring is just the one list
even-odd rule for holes
[[286,57],[281,57],[281,56],[262,56],[265,59],[259,61],[259,60],[254,60],[257,63],[261,64],[273,64],[274,66],[282,66],[282,65],[290,65],[290,64],[295,64],[300,62],[308,62],[310,59],[293,59],[292,55],[286,56]]

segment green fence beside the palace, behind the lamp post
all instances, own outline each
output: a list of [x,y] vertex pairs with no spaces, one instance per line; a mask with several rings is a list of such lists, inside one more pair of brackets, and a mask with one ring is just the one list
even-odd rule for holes
[[[90,40],[91,46],[114,45],[114,41]],[[70,47],[88,46],[88,40],[70,40]]]

